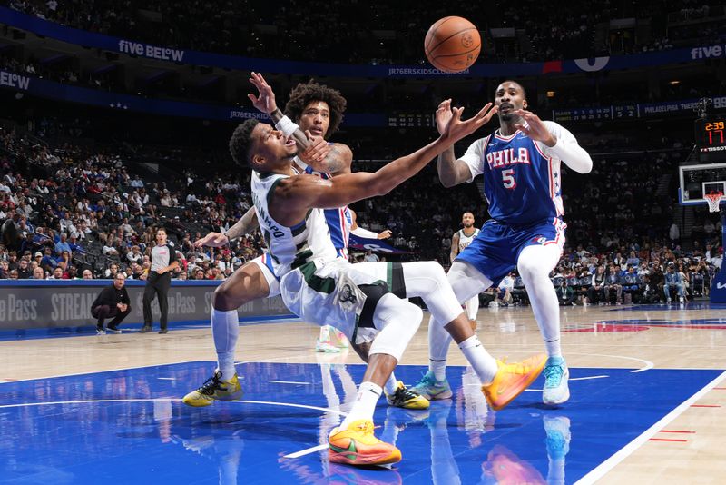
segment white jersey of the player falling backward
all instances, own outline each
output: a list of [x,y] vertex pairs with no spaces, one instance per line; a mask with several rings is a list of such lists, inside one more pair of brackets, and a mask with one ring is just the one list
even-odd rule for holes
[[330,241],[328,224],[322,209],[310,209],[305,219],[292,227],[277,223],[270,216],[268,204],[280,180],[289,175],[252,172],[252,202],[257,211],[260,230],[272,258],[278,278],[305,262],[330,262],[338,253]]

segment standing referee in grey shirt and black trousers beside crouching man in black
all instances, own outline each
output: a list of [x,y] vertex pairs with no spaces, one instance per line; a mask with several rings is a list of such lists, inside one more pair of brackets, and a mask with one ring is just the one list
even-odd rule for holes
[[155,295],[159,296],[159,308],[162,317],[159,319],[161,330],[159,333],[169,332],[166,326],[169,314],[169,301],[167,293],[172,286],[172,271],[179,267],[176,261],[176,251],[166,242],[166,230],[156,231],[156,245],[152,248],[152,268],[146,278],[146,288],[143,290],[143,326],[142,333],[152,331],[152,301]]

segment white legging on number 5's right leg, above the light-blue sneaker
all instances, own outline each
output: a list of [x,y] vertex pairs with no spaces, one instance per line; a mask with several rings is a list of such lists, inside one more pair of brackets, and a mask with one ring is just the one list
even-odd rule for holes
[[525,283],[532,312],[544,339],[549,357],[561,357],[560,306],[557,292],[550,282],[549,273],[560,259],[560,248],[549,246],[527,246],[519,255],[517,268]]

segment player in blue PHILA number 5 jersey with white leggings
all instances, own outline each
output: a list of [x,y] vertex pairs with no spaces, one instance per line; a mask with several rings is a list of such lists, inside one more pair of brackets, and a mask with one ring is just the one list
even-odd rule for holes
[[[514,81],[496,88],[500,128],[469,146],[456,159],[450,147],[438,157],[441,183],[452,187],[484,175],[484,195],[491,219],[448,272],[459,302],[499,282],[515,267],[519,271],[544,338],[543,401],[567,401],[569,371],[560,347],[560,313],[549,273],[564,245],[560,163],[577,173],[593,168],[590,155],[573,134],[526,110],[525,89]],[[451,100],[439,104],[439,131],[450,119]],[[446,353],[451,341],[434,319],[429,323],[429,371],[413,389],[429,399],[451,395],[446,381]]]

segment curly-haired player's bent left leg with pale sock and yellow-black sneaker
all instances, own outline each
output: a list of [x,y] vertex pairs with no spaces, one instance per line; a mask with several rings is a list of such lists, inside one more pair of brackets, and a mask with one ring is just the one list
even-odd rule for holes
[[234,369],[234,351],[240,334],[237,309],[247,302],[280,294],[280,285],[264,258],[243,264],[214,291],[211,335],[218,367],[199,389],[184,396],[185,404],[201,407],[216,400],[229,401],[241,397],[240,380]]

